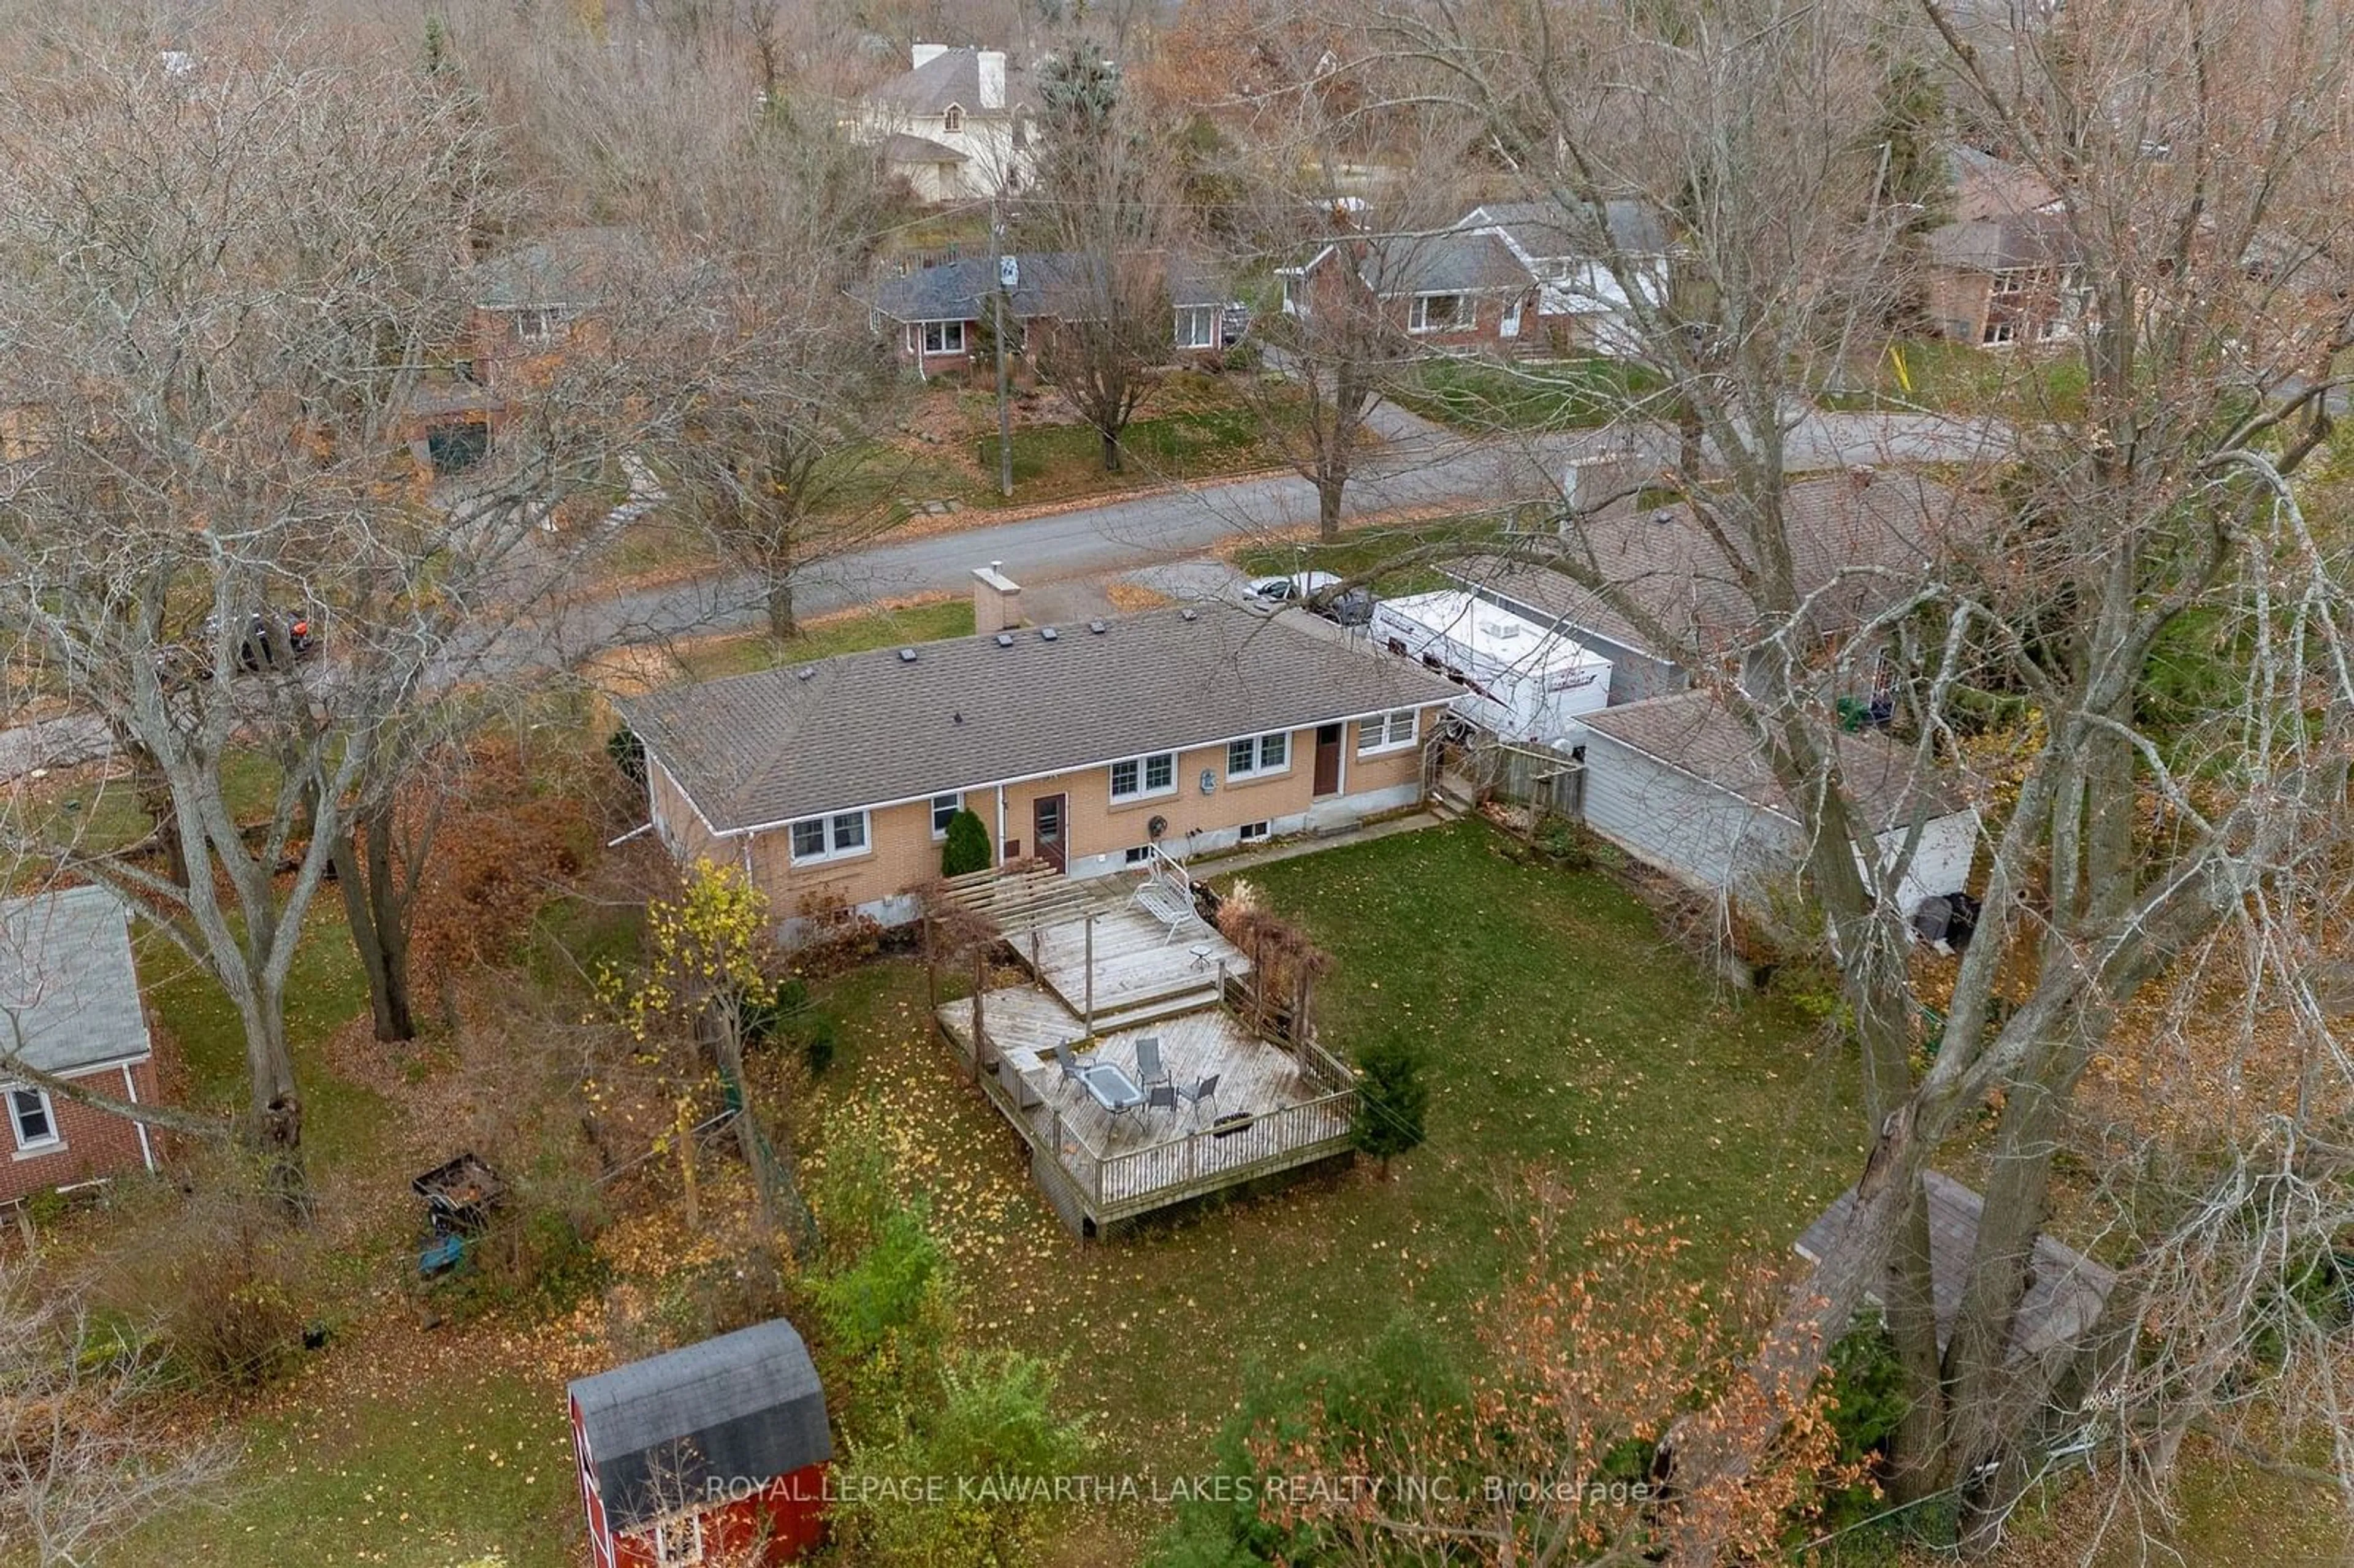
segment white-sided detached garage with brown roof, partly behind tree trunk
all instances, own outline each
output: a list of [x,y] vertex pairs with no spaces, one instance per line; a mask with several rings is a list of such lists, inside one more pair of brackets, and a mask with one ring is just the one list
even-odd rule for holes
[[[1749,730],[1709,692],[1678,692],[1589,713],[1584,815],[1603,838],[1704,892],[1756,897],[1787,883],[1806,833]],[[1916,758],[1886,735],[1836,735],[1855,805],[1881,829],[1881,848],[1904,848],[1914,812],[1921,843],[1904,871],[1900,906],[1961,892],[1977,855],[1977,810],[1951,775],[1916,777]]]

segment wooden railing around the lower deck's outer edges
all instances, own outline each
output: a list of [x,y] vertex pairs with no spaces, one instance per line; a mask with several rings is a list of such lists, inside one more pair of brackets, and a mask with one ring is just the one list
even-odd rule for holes
[[[1104,1154],[1064,1121],[1050,1097],[1022,1104],[1022,1071],[989,1043],[986,1026],[972,1048],[982,1062],[982,1092],[1033,1151],[1045,1154],[1043,1165],[1069,1180],[1071,1196],[1097,1224],[1339,1154],[1356,1128],[1354,1076],[1321,1045],[1309,1043],[1295,1052],[1309,1078],[1328,1090],[1316,1099],[1257,1116],[1219,1118],[1158,1144]],[[989,1064],[996,1064],[996,1071]],[[1048,1177],[1045,1170],[1038,1175]]]

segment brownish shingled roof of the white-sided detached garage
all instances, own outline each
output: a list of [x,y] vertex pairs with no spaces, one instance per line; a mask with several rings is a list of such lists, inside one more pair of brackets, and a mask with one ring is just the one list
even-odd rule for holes
[[[1584,723],[1596,735],[1695,779],[1730,789],[1777,817],[1798,822],[1789,796],[1782,793],[1782,784],[1775,782],[1773,768],[1758,751],[1756,737],[1725,711],[1714,692],[1690,690],[1674,697],[1648,697],[1587,713]],[[1876,730],[1831,732],[1822,739],[1836,742],[1841,784],[1871,831],[1909,824],[1914,808],[1928,819],[1937,819],[1963,805],[1951,770],[1933,765],[1928,775],[1921,775],[1911,746],[1900,746]]]

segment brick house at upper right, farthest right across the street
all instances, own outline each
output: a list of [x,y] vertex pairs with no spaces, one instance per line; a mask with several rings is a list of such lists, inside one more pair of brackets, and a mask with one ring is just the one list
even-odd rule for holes
[[1975,146],[1949,153],[1954,221],[1923,235],[1928,318],[1956,344],[2048,344],[2076,330],[2076,247],[2057,193]]

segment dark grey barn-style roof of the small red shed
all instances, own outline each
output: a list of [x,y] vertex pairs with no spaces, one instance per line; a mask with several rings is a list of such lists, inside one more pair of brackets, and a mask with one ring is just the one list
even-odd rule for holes
[[704,1479],[767,1483],[833,1457],[826,1391],[784,1318],[570,1387],[614,1530],[676,1514]]

